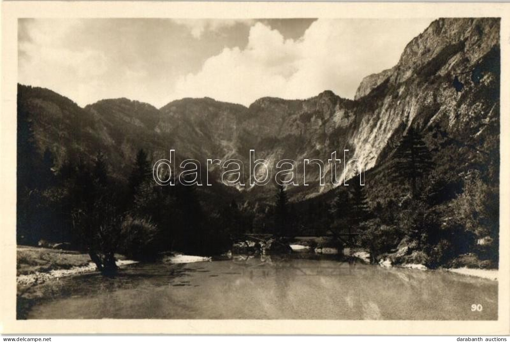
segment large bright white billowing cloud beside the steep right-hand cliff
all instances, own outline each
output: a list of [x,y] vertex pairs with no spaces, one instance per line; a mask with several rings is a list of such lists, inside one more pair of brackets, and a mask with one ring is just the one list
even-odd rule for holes
[[257,22],[244,48],[224,48],[177,80],[174,98],[249,105],[263,96],[307,98],[326,89],[353,98],[363,77],[398,62],[430,19],[319,19],[299,39]]

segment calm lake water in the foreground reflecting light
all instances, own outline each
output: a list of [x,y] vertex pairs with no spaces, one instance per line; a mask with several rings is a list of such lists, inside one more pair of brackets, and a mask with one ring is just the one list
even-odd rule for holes
[[45,292],[29,319],[497,319],[496,281],[317,255],[137,264],[114,278],[56,279]]

